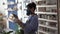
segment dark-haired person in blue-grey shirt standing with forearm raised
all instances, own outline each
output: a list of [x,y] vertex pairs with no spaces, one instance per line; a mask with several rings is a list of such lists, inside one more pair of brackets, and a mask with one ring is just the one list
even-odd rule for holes
[[[26,23],[22,23],[21,21],[17,22],[21,24],[24,30],[24,34],[36,34],[38,29],[38,16],[35,14],[36,4],[34,2],[29,3],[27,5],[27,13],[28,20]],[[18,20],[17,20],[18,21]]]

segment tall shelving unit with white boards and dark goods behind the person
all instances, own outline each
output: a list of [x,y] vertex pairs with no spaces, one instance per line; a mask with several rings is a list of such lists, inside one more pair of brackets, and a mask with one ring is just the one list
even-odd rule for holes
[[38,15],[38,34],[57,34],[57,0],[36,0]]

